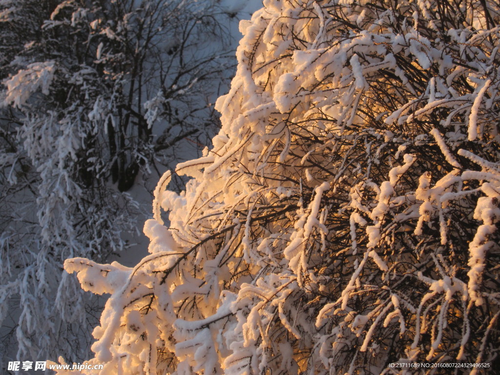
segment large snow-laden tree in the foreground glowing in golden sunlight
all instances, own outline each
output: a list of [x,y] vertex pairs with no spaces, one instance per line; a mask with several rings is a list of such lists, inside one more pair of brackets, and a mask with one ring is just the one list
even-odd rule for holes
[[150,255],[65,261],[111,294],[92,361],[178,375],[492,366],[500,5],[263,4],[240,22],[213,148],[177,165],[193,177],[180,194],[170,172],[156,187]]

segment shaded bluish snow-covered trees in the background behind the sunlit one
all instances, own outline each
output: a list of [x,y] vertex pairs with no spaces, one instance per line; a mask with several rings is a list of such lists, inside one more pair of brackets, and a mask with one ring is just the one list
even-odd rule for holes
[[0,2],[2,353],[88,355],[98,303],[61,263],[125,248],[144,216],[121,192],[216,133],[228,16],[215,1]]

